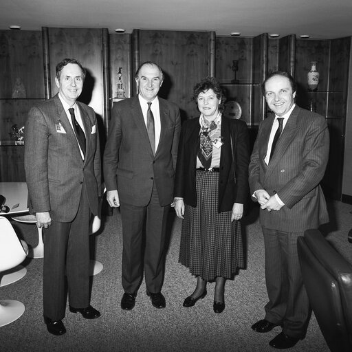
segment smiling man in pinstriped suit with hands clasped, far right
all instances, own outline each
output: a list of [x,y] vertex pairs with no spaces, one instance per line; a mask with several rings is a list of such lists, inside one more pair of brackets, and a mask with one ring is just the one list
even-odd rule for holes
[[250,189],[258,201],[265,243],[269,302],[252,329],[283,331],[269,342],[286,349],[305,338],[310,308],[300,274],[297,238],[329,221],[320,181],[329,155],[329,131],[322,116],[298,107],[296,85],[274,72],[262,85],[274,116],[259,126],[250,162]]

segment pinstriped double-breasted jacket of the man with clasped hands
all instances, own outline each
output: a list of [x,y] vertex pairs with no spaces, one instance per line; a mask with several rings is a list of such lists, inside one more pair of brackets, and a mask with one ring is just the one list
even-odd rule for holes
[[276,192],[285,206],[261,210],[261,225],[284,232],[304,232],[329,221],[320,181],[329,157],[329,131],[322,116],[296,106],[276,144],[269,165],[267,151],[274,116],[261,122],[251,156],[250,190]]

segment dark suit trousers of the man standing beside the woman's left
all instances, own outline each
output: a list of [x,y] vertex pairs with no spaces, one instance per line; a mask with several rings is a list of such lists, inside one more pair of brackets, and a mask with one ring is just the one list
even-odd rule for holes
[[[161,292],[165,272],[165,233],[170,206],[160,206],[155,184],[146,206],[121,201],[122,287],[137,292],[145,272],[148,292]],[[144,236],[145,225],[145,236]]]

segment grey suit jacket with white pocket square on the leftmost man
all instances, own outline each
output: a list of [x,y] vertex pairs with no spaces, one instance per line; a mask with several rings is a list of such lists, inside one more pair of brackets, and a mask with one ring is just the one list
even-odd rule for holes
[[[77,104],[86,134],[84,161],[58,94],[32,107],[25,124],[25,177],[30,212],[49,211],[52,219],[59,222],[74,219],[83,187],[91,212],[98,214],[101,163],[96,114],[86,104]],[[65,133],[57,131],[58,122]]]

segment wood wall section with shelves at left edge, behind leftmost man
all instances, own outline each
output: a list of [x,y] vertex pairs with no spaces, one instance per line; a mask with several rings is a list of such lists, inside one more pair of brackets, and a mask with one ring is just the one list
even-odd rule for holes
[[[45,97],[41,32],[0,31],[0,83],[0,140],[5,143],[12,139],[11,127],[24,126],[32,104]],[[23,146],[0,145],[0,181],[24,181],[23,152]]]

